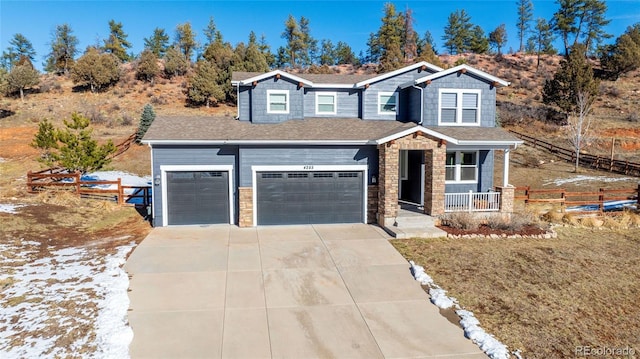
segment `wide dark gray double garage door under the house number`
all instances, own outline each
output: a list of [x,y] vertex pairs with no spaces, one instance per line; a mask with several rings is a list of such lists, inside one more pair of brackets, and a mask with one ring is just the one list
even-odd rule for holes
[[258,225],[365,222],[364,171],[258,171]]

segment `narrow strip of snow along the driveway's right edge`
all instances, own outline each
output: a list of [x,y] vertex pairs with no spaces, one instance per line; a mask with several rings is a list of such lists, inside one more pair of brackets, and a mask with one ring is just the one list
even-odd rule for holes
[[420,282],[420,284],[429,287],[429,295],[431,296],[431,302],[433,304],[442,309],[452,307],[456,309],[456,314],[461,318],[460,324],[467,338],[476,343],[478,347],[492,359],[509,358],[507,346],[491,334],[485,332],[484,329],[480,327],[480,322],[472,312],[462,309],[456,298],[447,296],[447,292],[434,283],[433,279],[425,273],[422,266],[416,265],[413,261],[409,263],[411,263],[411,272],[414,278]]

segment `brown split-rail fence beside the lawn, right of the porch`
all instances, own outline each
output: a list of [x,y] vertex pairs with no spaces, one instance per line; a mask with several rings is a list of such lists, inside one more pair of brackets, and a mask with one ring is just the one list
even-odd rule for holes
[[[567,207],[584,207],[584,210],[575,212],[599,212],[603,213],[607,203],[611,201],[635,200],[640,208],[640,184],[638,188],[605,189],[600,188],[591,192],[572,192],[565,189],[531,189],[530,187],[516,187],[515,201],[523,201],[528,204],[551,204],[558,206],[561,212]],[[587,209],[591,208],[591,209]]]

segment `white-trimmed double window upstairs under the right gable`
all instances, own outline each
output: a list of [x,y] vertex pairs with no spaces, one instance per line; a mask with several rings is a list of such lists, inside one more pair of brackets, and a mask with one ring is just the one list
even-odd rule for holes
[[438,124],[480,125],[480,90],[440,89]]

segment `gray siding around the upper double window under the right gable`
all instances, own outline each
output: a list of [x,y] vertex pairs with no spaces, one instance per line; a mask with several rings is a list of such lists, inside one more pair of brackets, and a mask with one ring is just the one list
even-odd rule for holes
[[491,84],[470,73],[450,74],[435,79],[424,89],[424,125],[438,126],[439,90],[473,89],[482,90],[480,94],[480,126],[496,126],[496,90]]

